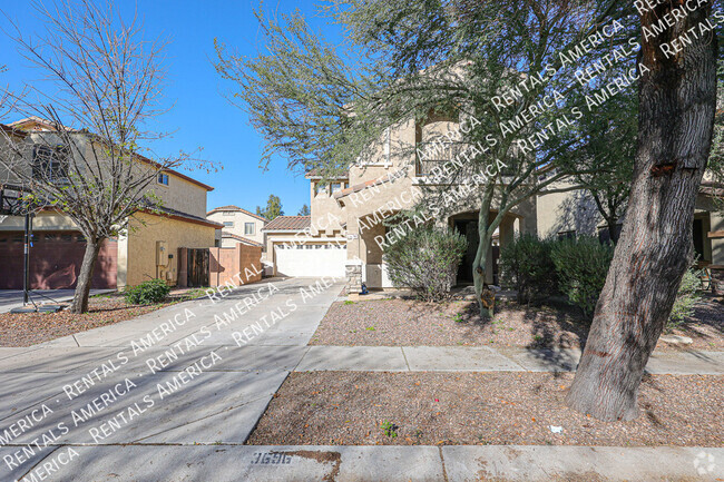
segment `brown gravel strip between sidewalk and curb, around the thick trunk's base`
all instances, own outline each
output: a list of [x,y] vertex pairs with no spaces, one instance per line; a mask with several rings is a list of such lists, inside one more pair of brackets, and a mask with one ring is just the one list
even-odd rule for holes
[[573,376],[293,372],[247,444],[724,445],[724,376],[645,376],[640,415],[616,423],[565,406]]

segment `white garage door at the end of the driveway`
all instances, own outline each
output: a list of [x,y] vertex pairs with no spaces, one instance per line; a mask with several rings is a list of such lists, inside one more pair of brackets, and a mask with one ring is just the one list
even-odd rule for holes
[[282,276],[344,276],[345,247],[332,244],[274,245],[276,274]]

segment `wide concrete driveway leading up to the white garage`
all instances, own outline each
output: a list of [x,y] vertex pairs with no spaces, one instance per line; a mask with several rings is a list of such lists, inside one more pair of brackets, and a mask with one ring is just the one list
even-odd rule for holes
[[[0,480],[134,480],[117,444],[146,446],[151,459],[169,446],[243,444],[342,286],[262,282],[0,348]],[[84,455],[108,444],[118,451]]]

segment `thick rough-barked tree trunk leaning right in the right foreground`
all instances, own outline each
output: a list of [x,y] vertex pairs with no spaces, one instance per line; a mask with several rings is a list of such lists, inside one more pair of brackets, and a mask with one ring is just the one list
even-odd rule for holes
[[[677,6],[662,3],[643,16],[643,24]],[[694,204],[712,139],[717,45],[710,35],[669,59],[659,45],[706,21],[710,13],[711,6],[643,41],[640,61],[650,71],[639,80],[629,207],[567,397],[573,409],[596,419],[638,415],[644,367],[687,267]]]

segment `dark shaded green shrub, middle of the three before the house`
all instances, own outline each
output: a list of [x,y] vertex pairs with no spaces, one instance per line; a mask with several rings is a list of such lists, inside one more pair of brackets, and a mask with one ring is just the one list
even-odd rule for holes
[[518,292],[518,302],[540,302],[556,291],[550,249],[556,243],[524,234],[500,250],[501,283]]

